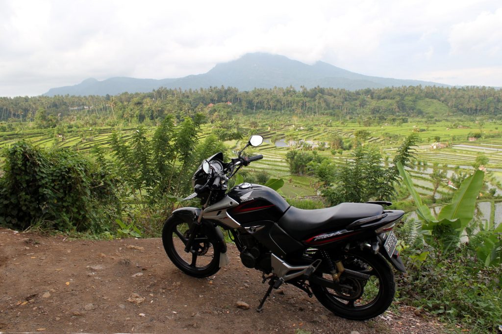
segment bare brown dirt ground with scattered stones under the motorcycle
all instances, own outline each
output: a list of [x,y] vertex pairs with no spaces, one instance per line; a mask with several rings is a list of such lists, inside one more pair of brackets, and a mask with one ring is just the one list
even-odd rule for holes
[[0,332],[442,332],[405,306],[369,321],[339,318],[288,284],[258,313],[268,285],[228,248],[230,264],[197,279],[169,261],[160,239],[68,240],[0,228]]

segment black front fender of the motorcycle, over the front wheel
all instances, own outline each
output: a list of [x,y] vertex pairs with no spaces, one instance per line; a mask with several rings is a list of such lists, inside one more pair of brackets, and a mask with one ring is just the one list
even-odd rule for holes
[[[201,210],[198,208],[180,208],[173,211],[173,216],[178,217],[183,222],[187,223],[189,227],[197,223],[197,218],[200,215]],[[201,221],[201,233],[207,235],[209,239],[212,240],[214,249],[218,250],[220,255],[220,267],[228,263],[226,255],[226,242],[221,232],[220,228],[214,225],[211,221],[202,219]],[[224,257],[224,259],[223,259]]]

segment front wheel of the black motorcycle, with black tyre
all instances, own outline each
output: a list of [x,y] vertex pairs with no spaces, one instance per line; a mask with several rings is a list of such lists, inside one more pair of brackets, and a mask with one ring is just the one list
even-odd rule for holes
[[171,216],[162,229],[162,243],[167,256],[184,273],[193,277],[207,277],[219,270],[220,252],[214,248],[202,230],[195,235],[191,252],[185,252],[190,228],[179,217]]

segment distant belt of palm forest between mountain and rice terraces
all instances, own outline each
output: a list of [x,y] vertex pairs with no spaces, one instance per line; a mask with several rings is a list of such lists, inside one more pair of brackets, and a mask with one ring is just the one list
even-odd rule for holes
[[33,122],[42,110],[54,119],[68,115],[109,116],[117,123],[142,123],[177,110],[208,110],[209,104],[227,103],[225,108],[210,109],[213,118],[225,119],[225,113],[277,111],[297,117],[330,115],[341,119],[386,120],[392,117],[439,117],[450,115],[486,115],[502,113],[502,90],[486,87],[397,87],[348,91],[316,87],[239,91],[232,87],[199,90],[160,88],[150,93],[123,93],[116,96],[37,96],[0,98],[0,120]]

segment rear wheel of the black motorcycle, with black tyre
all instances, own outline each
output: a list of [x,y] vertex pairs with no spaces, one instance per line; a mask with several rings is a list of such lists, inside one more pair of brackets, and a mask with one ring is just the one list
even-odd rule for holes
[[[319,302],[334,314],[352,320],[366,320],[385,312],[394,299],[396,283],[392,268],[384,257],[369,252],[349,252],[341,261],[344,268],[369,275],[369,278],[342,274],[336,288],[310,281]],[[326,267],[319,267],[314,275],[332,281]]]

